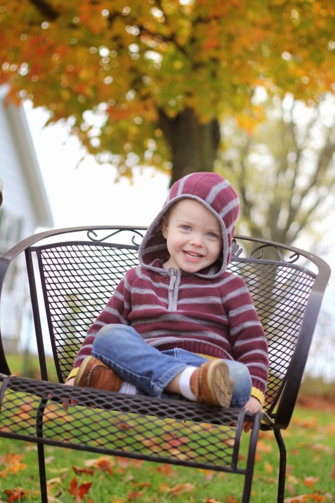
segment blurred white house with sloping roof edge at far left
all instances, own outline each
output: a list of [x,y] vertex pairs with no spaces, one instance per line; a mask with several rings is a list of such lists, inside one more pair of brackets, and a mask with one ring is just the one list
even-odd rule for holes
[[[33,234],[52,227],[53,219],[23,107],[6,103],[7,86],[0,87],[0,178],[4,192],[0,208],[0,254]],[[9,271],[3,287],[0,319],[5,347],[18,348],[27,292],[22,263]]]

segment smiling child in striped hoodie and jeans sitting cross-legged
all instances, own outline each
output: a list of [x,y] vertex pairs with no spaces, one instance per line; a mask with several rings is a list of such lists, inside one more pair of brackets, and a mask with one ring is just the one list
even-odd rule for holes
[[262,408],[268,348],[244,281],[227,271],[239,202],[215,173],[176,182],[88,331],[66,384]]

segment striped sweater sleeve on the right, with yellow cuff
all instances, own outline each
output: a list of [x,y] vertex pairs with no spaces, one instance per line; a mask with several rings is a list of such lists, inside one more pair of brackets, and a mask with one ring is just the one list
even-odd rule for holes
[[252,378],[252,396],[264,403],[269,372],[268,345],[250,293],[240,277],[231,281],[224,306],[234,360],[247,366]]

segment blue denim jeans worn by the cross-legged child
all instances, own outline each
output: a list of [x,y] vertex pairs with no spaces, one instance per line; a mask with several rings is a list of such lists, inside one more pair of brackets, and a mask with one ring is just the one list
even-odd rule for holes
[[[161,396],[169,382],[187,366],[199,367],[206,361],[190,351],[174,348],[159,351],[148,345],[129,325],[105,325],[95,337],[92,355],[108,365],[126,382],[151,396]],[[225,360],[234,379],[232,407],[243,407],[250,398],[252,382],[247,367]]]

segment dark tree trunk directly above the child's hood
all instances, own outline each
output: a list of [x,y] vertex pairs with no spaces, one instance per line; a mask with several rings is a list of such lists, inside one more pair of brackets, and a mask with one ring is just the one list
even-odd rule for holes
[[171,185],[189,173],[213,171],[220,144],[217,119],[203,124],[190,108],[174,118],[159,110],[159,127],[171,149]]

